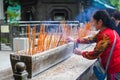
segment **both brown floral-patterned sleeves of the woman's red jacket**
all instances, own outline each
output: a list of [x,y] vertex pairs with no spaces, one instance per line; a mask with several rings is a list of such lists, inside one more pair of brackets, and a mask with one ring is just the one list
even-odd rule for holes
[[[98,35],[100,36],[98,38]],[[97,39],[100,39],[99,41]],[[96,47],[94,48],[94,51],[85,51],[82,52],[82,56],[88,59],[96,59],[98,58],[104,50],[110,45],[110,39],[109,36],[106,34],[100,34],[98,33],[94,37],[89,37],[87,39],[84,39],[82,43],[91,43],[91,42],[97,42]]]

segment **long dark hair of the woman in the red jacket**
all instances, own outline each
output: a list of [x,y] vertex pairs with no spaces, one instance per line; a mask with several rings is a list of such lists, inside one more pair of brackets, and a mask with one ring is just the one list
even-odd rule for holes
[[93,18],[98,22],[99,20],[102,20],[103,26],[115,29],[115,23],[110,18],[109,14],[104,10],[96,11],[93,15]]

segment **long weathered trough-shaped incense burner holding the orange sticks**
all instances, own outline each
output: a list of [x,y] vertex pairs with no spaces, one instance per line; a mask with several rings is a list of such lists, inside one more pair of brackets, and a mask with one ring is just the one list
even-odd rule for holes
[[13,73],[15,72],[15,64],[17,62],[24,62],[26,65],[26,71],[28,72],[28,78],[32,78],[69,58],[73,54],[73,47],[74,43],[70,42],[35,55],[11,53],[10,61]]

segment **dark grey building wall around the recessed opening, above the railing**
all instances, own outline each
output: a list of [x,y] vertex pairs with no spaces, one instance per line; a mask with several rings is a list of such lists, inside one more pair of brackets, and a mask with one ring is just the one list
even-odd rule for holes
[[[22,4],[22,3],[21,3]],[[37,0],[33,3],[22,4],[22,20],[51,20],[54,10],[65,10],[67,20],[74,20],[82,6],[75,0]],[[28,17],[29,18],[26,18]]]

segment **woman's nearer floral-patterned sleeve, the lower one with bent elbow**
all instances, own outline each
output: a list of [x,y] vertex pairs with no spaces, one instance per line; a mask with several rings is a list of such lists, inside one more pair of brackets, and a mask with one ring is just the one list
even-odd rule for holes
[[81,54],[83,57],[87,59],[96,59],[104,52],[104,50],[109,46],[109,44],[110,44],[109,37],[104,35],[102,40],[97,42],[93,51],[85,51],[82,52]]

